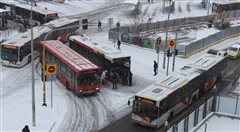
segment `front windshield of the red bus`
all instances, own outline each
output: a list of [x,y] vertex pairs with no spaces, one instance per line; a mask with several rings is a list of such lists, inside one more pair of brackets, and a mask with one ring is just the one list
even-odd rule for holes
[[100,82],[97,73],[85,73],[78,76],[77,83],[79,86],[95,85]]

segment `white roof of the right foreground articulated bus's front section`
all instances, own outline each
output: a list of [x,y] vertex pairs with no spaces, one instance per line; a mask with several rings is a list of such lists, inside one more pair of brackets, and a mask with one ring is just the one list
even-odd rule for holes
[[181,88],[188,82],[199,76],[203,71],[192,68],[184,67],[179,72],[165,77],[161,81],[150,85],[142,91],[135,94],[135,96],[151,99],[154,101],[161,101],[176,89]]

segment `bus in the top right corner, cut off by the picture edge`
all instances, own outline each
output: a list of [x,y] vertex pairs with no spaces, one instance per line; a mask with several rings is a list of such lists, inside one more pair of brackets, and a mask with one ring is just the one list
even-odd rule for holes
[[218,1],[212,4],[212,13],[219,14],[223,11],[240,10],[240,0]]

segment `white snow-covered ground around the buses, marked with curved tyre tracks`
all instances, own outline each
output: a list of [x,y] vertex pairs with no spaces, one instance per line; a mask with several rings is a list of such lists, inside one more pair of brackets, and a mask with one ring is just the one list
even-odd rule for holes
[[[75,2],[75,3],[74,3]],[[89,2],[88,4],[85,4]],[[67,15],[71,13],[81,13],[81,11],[90,11],[95,8],[100,8],[106,6],[103,5],[104,2],[110,2],[107,0],[97,1],[97,0],[81,0],[81,1],[67,1],[64,6],[61,5],[61,9],[55,9],[62,13],[62,15]],[[113,2],[113,1],[112,1]],[[122,0],[114,1],[122,2]],[[177,2],[180,2],[177,1]],[[183,1],[185,3],[189,1]],[[52,2],[48,2],[52,3]],[[84,3],[84,4],[83,4]],[[93,4],[94,3],[94,4]],[[110,2],[111,3],[111,2]],[[192,2],[192,3],[195,3]],[[197,1],[196,3],[199,3]],[[111,3],[112,4],[112,3]],[[143,5],[143,8],[148,7],[149,12],[154,12],[158,4],[147,4]],[[180,3],[184,5],[184,3]],[[39,3],[39,6],[47,5],[45,3]],[[69,8],[69,5],[74,5],[75,7]],[[78,12],[77,8],[82,10]],[[158,6],[157,6],[158,5]],[[49,5],[48,9],[51,9],[53,5]],[[195,5],[197,6],[197,5]],[[161,5],[160,5],[161,7]],[[85,9],[86,8],[86,9]],[[53,8],[54,10],[54,8]],[[146,14],[147,12],[146,11]],[[204,12],[205,11],[205,12]],[[191,11],[193,12],[193,10]],[[200,10],[202,14],[206,13],[206,10]],[[195,15],[197,13],[185,12],[189,16]],[[184,14],[185,14],[184,13]],[[131,23],[125,20],[124,11],[119,11],[113,13],[115,15],[106,16],[114,17],[115,20],[121,20],[126,23]],[[153,13],[154,14],[154,13]],[[150,16],[151,13],[149,13]],[[186,16],[188,16],[186,15]],[[148,16],[148,15],[146,15]],[[155,15],[158,16],[158,15]],[[166,15],[165,15],[166,16]],[[164,18],[166,18],[164,16]],[[182,15],[176,15],[182,17]],[[161,16],[160,16],[161,17]],[[159,18],[160,18],[159,17]],[[104,18],[103,18],[104,20]],[[114,20],[114,21],[115,21]],[[130,20],[130,19],[129,19]],[[155,20],[161,20],[156,18]],[[208,33],[208,32],[205,32]],[[92,38],[105,43],[106,45],[114,47],[114,44],[108,41],[107,31],[90,34]],[[200,37],[200,36],[197,36]],[[239,41],[240,37],[234,38],[222,42],[216,47],[222,47],[229,43]],[[117,90],[112,90],[112,85],[110,83],[103,85],[101,92],[91,95],[78,97],[72,92],[65,89],[62,83],[57,79],[52,82],[51,94],[51,82],[46,84],[46,103],[47,107],[42,106],[43,104],[43,84],[40,78],[40,64],[38,59],[34,61],[35,65],[35,101],[36,101],[36,126],[32,125],[32,87],[31,87],[31,65],[28,64],[23,68],[9,68],[0,65],[0,85],[1,85],[1,122],[0,131],[10,132],[10,131],[21,131],[25,125],[29,125],[31,131],[76,131],[76,132],[88,132],[91,130],[99,130],[106,125],[112,123],[113,121],[123,117],[131,111],[131,107],[127,105],[127,100],[136,92],[141,89],[146,88],[148,85],[166,77],[166,70],[162,69],[162,54],[160,53],[160,64],[159,64],[159,74],[153,76],[153,60],[157,59],[157,54],[154,50],[144,49],[140,47],[122,45],[122,52],[131,55],[131,69],[133,72],[133,86],[126,87],[118,85]],[[203,51],[196,54],[188,59],[176,58],[176,71],[183,65],[197,58],[199,55],[205,53]],[[170,74],[171,71],[170,62]],[[240,85],[236,89],[240,91]],[[52,102],[51,102],[52,95]],[[52,108],[51,108],[52,104]]]

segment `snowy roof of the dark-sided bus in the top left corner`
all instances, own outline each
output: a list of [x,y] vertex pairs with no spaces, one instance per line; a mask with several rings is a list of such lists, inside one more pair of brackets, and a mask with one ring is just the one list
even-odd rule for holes
[[[14,0],[12,0],[12,1],[2,1],[1,0],[1,3],[9,5],[9,6],[14,5],[16,7],[27,9],[29,11],[31,10],[31,3],[30,2],[29,2],[29,4],[26,4],[26,3],[23,4],[23,3],[20,3],[20,2],[14,1]],[[38,6],[33,6],[32,10],[35,11],[35,12],[39,12],[41,14],[45,14],[45,15],[52,15],[52,14],[57,15],[57,12],[54,12],[54,11],[51,11],[51,10],[45,10],[45,9],[42,9]]]

